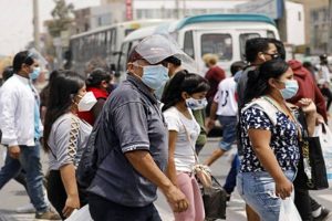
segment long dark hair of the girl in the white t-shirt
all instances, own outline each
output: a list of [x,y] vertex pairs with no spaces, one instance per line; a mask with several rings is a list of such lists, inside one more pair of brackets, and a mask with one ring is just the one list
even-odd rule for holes
[[198,74],[180,71],[169,81],[168,87],[164,92],[162,102],[164,103],[163,112],[183,101],[181,93],[187,92],[189,95],[200,92],[208,92],[209,83]]

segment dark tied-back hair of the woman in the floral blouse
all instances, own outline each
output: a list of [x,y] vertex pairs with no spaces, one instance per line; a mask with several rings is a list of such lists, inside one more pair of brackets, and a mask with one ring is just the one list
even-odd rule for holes
[[279,78],[289,69],[287,62],[281,59],[264,62],[259,69],[248,72],[248,82],[245,90],[245,103],[251,99],[266,95],[269,90],[269,78]]

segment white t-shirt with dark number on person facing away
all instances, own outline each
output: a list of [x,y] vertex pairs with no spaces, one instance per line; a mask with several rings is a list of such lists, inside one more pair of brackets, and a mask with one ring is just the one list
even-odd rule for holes
[[218,85],[218,92],[215,102],[218,103],[217,115],[219,116],[237,116],[238,103],[236,101],[237,83],[234,77],[221,81]]

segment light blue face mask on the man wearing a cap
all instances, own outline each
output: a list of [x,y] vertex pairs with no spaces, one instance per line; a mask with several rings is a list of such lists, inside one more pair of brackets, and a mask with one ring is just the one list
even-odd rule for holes
[[168,78],[168,69],[160,64],[143,66],[142,82],[154,91],[160,88]]

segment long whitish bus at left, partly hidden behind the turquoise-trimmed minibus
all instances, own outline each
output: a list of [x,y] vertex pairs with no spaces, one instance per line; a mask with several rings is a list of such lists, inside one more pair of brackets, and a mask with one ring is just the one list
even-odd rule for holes
[[66,55],[68,67],[83,74],[89,61],[101,59],[115,71],[121,44],[125,36],[139,28],[156,25],[162,22],[165,20],[128,21],[73,35]]

